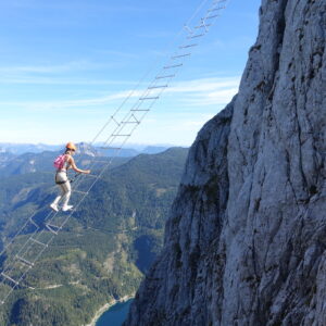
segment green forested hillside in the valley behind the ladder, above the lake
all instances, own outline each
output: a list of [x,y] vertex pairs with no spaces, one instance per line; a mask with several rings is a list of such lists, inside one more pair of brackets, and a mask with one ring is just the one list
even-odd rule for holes
[[[187,152],[173,148],[141,154],[109,170],[27,274],[24,287],[2,306],[0,324],[83,325],[105,302],[133,294],[162,246]],[[46,172],[3,178],[2,238],[34,209],[41,223],[55,191]]]

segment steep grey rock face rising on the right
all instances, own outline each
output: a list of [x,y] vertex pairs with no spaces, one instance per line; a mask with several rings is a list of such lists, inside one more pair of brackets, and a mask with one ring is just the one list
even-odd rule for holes
[[326,0],[263,0],[125,325],[326,325]]

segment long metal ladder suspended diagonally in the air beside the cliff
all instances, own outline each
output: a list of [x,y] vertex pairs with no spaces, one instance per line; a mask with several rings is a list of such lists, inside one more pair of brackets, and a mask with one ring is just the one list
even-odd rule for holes
[[[149,85],[142,91],[133,90],[92,139],[90,145],[100,142],[101,148],[110,153],[110,159],[103,160],[95,156],[87,166],[92,172],[97,171],[98,173],[80,175],[74,181],[72,185],[74,209],[70,212],[50,211],[43,223],[36,222],[37,211],[35,211],[11,238],[0,253],[0,255],[7,254],[3,263],[4,268],[0,272],[1,304],[15,289],[24,287],[23,280],[26,274],[35,266],[40,255],[76,213],[145,116],[168,88],[171,80],[185,66],[186,60],[192,55],[191,51],[199,46],[199,40],[210,32],[221,12],[226,8],[227,2],[228,0],[204,0],[201,3],[198,12],[193,15],[193,17],[197,16],[195,17],[197,21],[191,17],[183,27],[181,41],[154,74]],[[131,103],[126,105],[128,101]],[[127,109],[123,110],[123,106],[127,106]]]

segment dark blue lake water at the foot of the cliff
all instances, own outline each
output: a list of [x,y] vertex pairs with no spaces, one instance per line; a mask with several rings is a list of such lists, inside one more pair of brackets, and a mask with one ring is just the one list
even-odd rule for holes
[[121,326],[127,317],[131,302],[133,299],[127,302],[116,303],[115,305],[111,306],[101,315],[96,326]]

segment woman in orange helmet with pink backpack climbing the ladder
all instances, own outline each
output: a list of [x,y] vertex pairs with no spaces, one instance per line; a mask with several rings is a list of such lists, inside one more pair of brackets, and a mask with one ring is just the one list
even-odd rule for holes
[[73,209],[73,205],[68,205],[68,201],[72,193],[72,187],[67,178],[67,171],[70,168],[73,168],[77,173],[85,173],[85,174],[90,173],[89,170],[80,170],[76,166],[75,160],[73,158],[76,150],[77,150],[76,146],[73,142],[68,142],[65,147],[65,153],[62,156],[58,158],[61,160],[61,163],[59,164],[59,168],[57,170],[55,184],[60,187],[61,195],[58,196],[54,199],[54,201],[50,204],[50,208],[55,212],[59,211],[58,204],[60,200],[63,200],[62,211],[65,212]]

